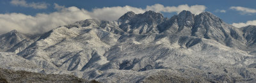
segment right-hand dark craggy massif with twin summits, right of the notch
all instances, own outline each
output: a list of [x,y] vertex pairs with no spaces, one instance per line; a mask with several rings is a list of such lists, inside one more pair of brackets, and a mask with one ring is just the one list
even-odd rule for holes
[[210,12],[193,15],[190,11],[182,11],[157,27],[162,34],[196,36],[216,40],[228,47],[244,48],[243,32]]

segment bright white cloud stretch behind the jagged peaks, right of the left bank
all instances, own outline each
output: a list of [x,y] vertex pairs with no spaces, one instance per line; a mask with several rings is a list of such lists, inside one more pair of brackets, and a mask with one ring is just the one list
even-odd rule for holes
[[136,8],[132,6],[113,6],[104,8],[94,8],[92,11],[88,12],[93,19],[99,20],[117,20],[119,17],[127,13],[128,11],[133,11],[134,13],[144,13],[145,11],[152,10],[156,12],[167,12],[167,13],[180,13],[183,10],[189,10],[191,13],[199,14],[205,10],[203,5],[193,5],[188,6],[188,4],[181,4],[179,6],[163,6],[162,4],[154,4],[152,6],[147,6],[147,8]]

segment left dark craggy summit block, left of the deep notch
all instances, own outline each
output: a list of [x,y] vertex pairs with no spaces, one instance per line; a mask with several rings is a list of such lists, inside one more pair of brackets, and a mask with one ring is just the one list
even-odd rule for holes
[[120,29],[127,33],[145,34],[158,33],[156,26],[167,20],[161,13],[146,11],[145,13],[125,13],[118,21],[122,22]]

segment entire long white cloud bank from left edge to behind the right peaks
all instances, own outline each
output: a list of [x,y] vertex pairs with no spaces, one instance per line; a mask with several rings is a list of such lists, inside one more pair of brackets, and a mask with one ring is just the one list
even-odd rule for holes
[[[75,6],[66,8],[54,4],[54,8],[57,11],[52,13],[37,13],[35,16],[25,15],[23,13],[0,13],[0,34],[7,33],[16,29],[22,33],[45,33],[58,26],[65,26],[72,24],[78,20],[85,19],[99,19],[99,20],[118,20],[119,17],[124,15],[127,11],[134,11],[134,13],[144,13],[147,10],[163,11],[163,12],[176,12],[179,13],[182,10],[189,10],[192,13],[201,13],[205,10],[205,6],[195,5],[188,6],[182,4],[180,6],[166,6],[163,9],[158,6],[161,4],[155,4],[147,6],[147,8],[136,8],[132,6],[114,6],[104,8],[94,8],[92,11],[79,9]],[[151,9],[150,9],[151,8]],[[196,10],[198,9],[198,10]]]

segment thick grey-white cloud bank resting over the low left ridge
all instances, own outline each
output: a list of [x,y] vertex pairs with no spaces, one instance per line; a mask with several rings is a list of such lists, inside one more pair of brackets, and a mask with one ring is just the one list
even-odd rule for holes
[[91,19],[87,12],[72,6],[49,14],[38,13],[35,16],[22,13],[0,14],[0,33],[6,33],[13,29],[22,33],[44,33],[77,20]]

